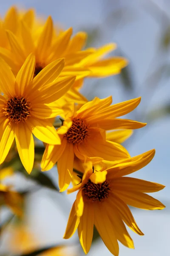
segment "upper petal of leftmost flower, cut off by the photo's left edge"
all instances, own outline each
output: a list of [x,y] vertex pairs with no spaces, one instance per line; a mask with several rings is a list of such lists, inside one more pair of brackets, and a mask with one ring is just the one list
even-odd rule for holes
[[9,98],[15,96],[15,77],[6,62],[0,58],[0,90]]

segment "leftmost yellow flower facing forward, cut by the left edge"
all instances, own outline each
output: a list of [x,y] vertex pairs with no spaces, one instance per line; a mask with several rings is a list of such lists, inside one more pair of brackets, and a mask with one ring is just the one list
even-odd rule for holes
[[48,119],[59,115],[55,101],[75,81],[73,76],[57,79],[63,67],[64,59],[59,59],[33,79],[35,57],[30,54],[15,79],[9,66],[0,59],[0,90],[4,93],[0,95],[0,164],[5,160],[14,138],[28,173],[34,163],[33,134],[45,143],[61,143]]

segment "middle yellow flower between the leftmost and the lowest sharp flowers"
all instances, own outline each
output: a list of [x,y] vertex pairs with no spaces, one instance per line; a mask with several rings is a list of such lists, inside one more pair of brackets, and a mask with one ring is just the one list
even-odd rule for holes
[[61,192],[67,189],[71,182],[74,156],[82,162],[91,160],[93,163],[102,159],[113,161],[130,157],[122,145],[107,140],[106,131],[145,126],[145,123],[116,118],[136,108],[140,98],[115,105],[111,105],[111,102],[112,97],[95,98],[78,111],[74,110],[74,105],[70,104],[70,108],[65,106],[65,121],[57,130],[61,145],[47,145],[41,163],[42,171],[47,171],[57,162]]

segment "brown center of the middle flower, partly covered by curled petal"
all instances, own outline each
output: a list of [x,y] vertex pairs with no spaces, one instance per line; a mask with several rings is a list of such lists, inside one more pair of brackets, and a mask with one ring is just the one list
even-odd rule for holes
[[82,143],[89,136],[89,125],[82,119],[73,119],[71,128],[68,129],[68,132],[65,134],[68,142],[73,144]]

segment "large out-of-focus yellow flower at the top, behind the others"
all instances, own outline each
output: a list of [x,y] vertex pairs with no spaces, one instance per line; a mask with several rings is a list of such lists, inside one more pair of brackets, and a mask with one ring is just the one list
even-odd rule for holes
[[[6,27],[11,50],[0,47],[0,56],[8,63],[13,73],[17,74],[28,54],[33,52],[36,56],[34,76],[57,58],[65,58],[65,67],[60,76],[77,76],[74,88],[67,93],[67,98],[74,102],[78,101],[80,104],[87,102],[85,97],[75,90],[82,86],[82,78],[112,76],[120,73],[127,65],[127,60],[119,56],[103,59],[104,55],[116,48],[116,44],[107,44],[99,49],[82,50],[87,38],[85,32],[78,32],[72,38],[72,28],[57,32],[51,17],[48,17],[42,26],[34,20],[32,9],[20,19],[19,14],[15,16],[18,23],[17,34],[10,27]],[[5,33],[4,29],[3,32]]]

